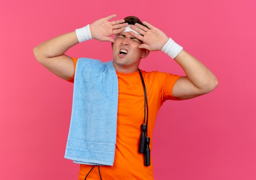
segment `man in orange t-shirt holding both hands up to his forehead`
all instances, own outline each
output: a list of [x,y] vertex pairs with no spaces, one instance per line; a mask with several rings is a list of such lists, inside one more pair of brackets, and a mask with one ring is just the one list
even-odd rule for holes
[[[118,91],[117,108],[112,108],[114,113],[117,113],[117,122],[113,123],[117,124],[114,132],[114,136],[116,135],[116,139],[114,141],[115,161],[113,161],[113,164],[110,163],[110,165],[107,162],[105,164],[106,166],[99,166],[100,163],[98,162],[100,161],[94,161],[94,157],[92,158],[92,161],[88,162],[82,162],[80,161],[81,159],[76,157],[70,158],[81,163],[79,180],[97,180],[101,179],[101,177],[102,179],[111,180],[153,180],[152,161],[148,154],[145,153],[146,150],[144,147],[146,148],[149,144],[149,147],[147,148],[152,148],[152,142],[149,143],[149,138],[152,137],[157,111],[165,100],[185,100],[211,92],[218,85],[218,80],[199,60],[184,51],[180,45],[175,43],[171,38],[168,38],[164,32],[153,27],[148,22],[144,21],[141,23],[138,18],[133,16],[127,17],[125,20],[116,20],[111,22],[110,20],[115,17],[116,15],[111,15],[106,18],[102,18],[90,25],[88,24],[86,27],[76,29],[76,31],[66,33],[43,42],[34,48],[34,54],[36,59],[54,74],[64,80],[68,80],[70,82],[74,81],[75,100],[73,101],[72,107],[72,117],[74,121],[76,118],[81,118],[81,116],[91,117],[94,113],[101,113],[101,109],[92,110],[91,108],[93,107],[94,102],[88,105],[88,103],[91,103],[88,101],[94,101],[94,98],[97,99],[97,96],[101,96],[102,93],[108,91],[109,87],[111,90],[108,93],[112,93],[113,87],[113,91]],[[112,35],[116,35],[115,38],[111,38],[110,36]],[[104,63],[99,63],[96,60],[83,58],[77,60],[64,54],[75,44],[90,39],[112,42],[113,61],[110,62],[111,64],[107,63],[108,65],[106,65]],[[186,76],[181,77],[157,71],[145,72],[138,70],[141,58],[146,58],[150,51],[163,51],[167,53],[178,64],[180,64],[184,69]],[[115,88],[115,82],[112,82],[112,78],[115,79],[115,77],[108,78],[108,80],[106,80],[108,82],[105,82],[104,80],[104,78],[108,77],[110,74],[112,67],[115,70],[115,76],[117,76],[118,80],[117,88]],[[98,80],[100,83],[96,84],[98,83]],[[84,83],[87,84],[83,87]],[[83,91],[81,91],[79,86],[84,88]],[[81,109],[76,109],[76,105],[74,105],[77,103],[76,99],[79,99],[80,103],[80,99],[83,98],[83,96],[80,97],[79,95],[84,93],[84,91],[90,91],[88,89],[95,87],[97,87],[97,89],[94,89],[92,93],[88,92],[90,93],[89,96],[84,94],[86,98],[85,100],[82,100],[83,105],[78,105],[78,108]],[[101,89],[103,89],[104,92],[101,91]],[[100,93],[97,93],[98,91],[100,91]],[[96,92],[97,95],[93,96],[95,94],[94,92]],[[79,96],[79,98],[76,98],[77,96]],[[93,98],[90,98],[91,96],[93,96]],[[102,100],[100,97],[100,108],[108,108],[108,105],[101,106],[100,104],[101,102],[105,103],[105,101],[107,100]],[[111,103],[115,104],[114,101],[115,100]],[[111,103],[109,106],[112,105]],[[82,114],[83,108],[86,109],[87,107],[88,109],[84,114]],[[112,111],[111,108],[104,111],[104,113],[108,113],[108,111]],[[87,120],[88,119],[89,118],[87,118]],[[93,122],[90,123],[93,124],[94,121],[97,120],[98,119],[95,118]],[[81,123],[83,124],[84,122]],[[103,128],[101,127],[101,130],[104,131],[104,127],[106,127],[105,129],[108,129],[107,126],[110,123],[112,122],[107,121],[107,123],[103,125]],[[88,128],[86,130],[88,133],[88,131],[91,131],[93,128],[92,124],[88,124],[81,129],[77,126],[76,128],[78,129],[75,129],[75,131],[83,131],[83,129]],[[142,128],[141,130],[141,124],[145,125],[146,128]],[[71,134],[72,127],[70,127],[70,129]],[[101,133],[101,131],[97,133]],[[97,133],[95,133],[95,136],[97,136]],[[106,133],[103,133],[101,136],[108,137],[109,133],[111,134],[113,132],[106,131]],[[140,143],[141,134],[143,134],[144,139],[148,140],[148,142],[146,142],[146,140],[142,140],[142,145]],[[78,149],[79,152],[87,152],[90,148],[86,143],[90,144],[92,140],[85,143],[81,140],[81,143],[84,143],[82,145],[83,147],[78,148],[74,148],[76,146],[73,146],[72,142],[72,140],[68,139],[66,149],[67,154],[69,153],[67,151],[72,151],[70,148],[73,148],[76,153],[76,150]],[[90,153],[96,153],[95,156],[101,156],[101,154],[97,154],[96,151],[104,149],[104,144],[105,143],[101,143],[97,146],[100,147],[98,150],[94,149],[94,152]],[[142,152],[139,152],[140,145],[143,147],[142,149],[144,149]],[[90,150],[92,150],[92,148]],[[81,156],[84,157],[84,155]],[[67,155],[66,157],[69,158],[70,155]],[[106,157],[99,158],[102,160]],[[82,159],[84,160],[87,158]],[[98,168],[94,168],[97,165]]]

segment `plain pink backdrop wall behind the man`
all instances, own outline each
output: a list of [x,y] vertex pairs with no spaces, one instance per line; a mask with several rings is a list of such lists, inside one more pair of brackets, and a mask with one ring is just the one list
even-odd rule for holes
[[[0,179],[77,179],[79,165],[63,158],[73,84],[42,67],[32,49],[113,13],[147,20],[219,80],[212,93],[160,109],[155,179],[255,180],[255,0],[1,0]],[[110,43],[96,40],[67,54],[112,60]],[[140,68],[184,75],[162,52]]]

